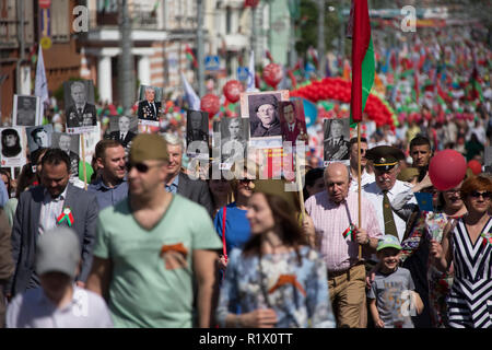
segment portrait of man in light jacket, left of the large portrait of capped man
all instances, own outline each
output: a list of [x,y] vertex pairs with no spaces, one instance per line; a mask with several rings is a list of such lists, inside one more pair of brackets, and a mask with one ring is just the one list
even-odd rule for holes
[[249,136],[247,118],[222,118],[221,159],[222,163],[246,160]]

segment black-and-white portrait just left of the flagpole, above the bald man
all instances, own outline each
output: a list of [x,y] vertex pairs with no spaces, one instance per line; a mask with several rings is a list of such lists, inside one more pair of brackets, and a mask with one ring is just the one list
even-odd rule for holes
[[349,118],[325,119],[323,145],[326,162],[349,160]]

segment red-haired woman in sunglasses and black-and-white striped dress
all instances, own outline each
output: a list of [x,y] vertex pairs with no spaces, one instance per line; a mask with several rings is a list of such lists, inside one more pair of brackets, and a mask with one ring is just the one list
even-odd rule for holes
[[485,176],[465,180],[460,190],[468,213],[448,224],[443,241],[431,241],[435,266],[454,264],[454,281],[446,299],[452,328],[492,328],[492,182]]

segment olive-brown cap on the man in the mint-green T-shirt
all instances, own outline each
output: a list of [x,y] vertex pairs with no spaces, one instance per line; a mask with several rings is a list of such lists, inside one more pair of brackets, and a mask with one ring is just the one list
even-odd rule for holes
[[151,160],[169,160],[167,142],[157,133],[139,133],[132,140],[129,161],[134,164]]

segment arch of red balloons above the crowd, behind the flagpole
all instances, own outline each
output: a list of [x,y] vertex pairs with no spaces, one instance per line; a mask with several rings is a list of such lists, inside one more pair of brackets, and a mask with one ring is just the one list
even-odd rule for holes
[[[305,85],[291,92],[291,96],[304,97],[313,102],[324,100],[336,100],[343,103],[350,103],[351,86],[350,81],[341,78],[325,78],[323,80],[313,81],[309,85]],[[378,127],[389,125],[395,128],[396,115],[388,108],[379,97],[370,94],[364,108],[364,113],[371,120],[374,120]]]

